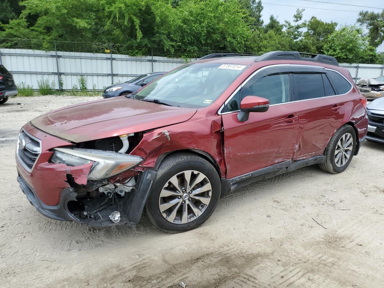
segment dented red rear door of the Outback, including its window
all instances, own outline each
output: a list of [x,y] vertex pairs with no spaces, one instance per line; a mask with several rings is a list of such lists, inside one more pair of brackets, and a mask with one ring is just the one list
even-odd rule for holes
[[323,154],[343,121],[344,101],[336,96],[327,74],[324,68],[294,68],[295,101],[301,111],[294,160]]

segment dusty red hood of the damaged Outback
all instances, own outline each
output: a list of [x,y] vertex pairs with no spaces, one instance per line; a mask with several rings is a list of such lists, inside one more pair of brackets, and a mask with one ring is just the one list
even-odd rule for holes
[[51,111],[31,123],[48,134],[78,143],[177,124],[196,111],[121,96]]

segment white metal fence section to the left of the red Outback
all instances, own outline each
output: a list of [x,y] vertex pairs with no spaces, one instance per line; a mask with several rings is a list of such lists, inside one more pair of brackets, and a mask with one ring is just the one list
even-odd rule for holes
[[8,48],[0,48],[0,55],[0,63],[13,74],[15,82],[33,89],[38,88],[41,79],[48,79],[54,89],[78,89],[79,77],[83,76],[88,89],[101,90],[141,74],[169,71],[185,63],[183,58],[160,56]]

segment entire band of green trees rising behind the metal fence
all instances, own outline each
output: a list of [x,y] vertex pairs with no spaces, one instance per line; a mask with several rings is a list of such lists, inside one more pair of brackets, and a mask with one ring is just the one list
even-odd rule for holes
[[[183,58],[295,50],[382,61],[376,47],[384,41],[384,11],[360,12],[367,37],[355,26],[303,21],[303,11],[283,23],[271,15],[265,24],[261,0],[2,0],[0,38],[7,39],[0,47]],[[34,40],[23,47],[16,38]]]

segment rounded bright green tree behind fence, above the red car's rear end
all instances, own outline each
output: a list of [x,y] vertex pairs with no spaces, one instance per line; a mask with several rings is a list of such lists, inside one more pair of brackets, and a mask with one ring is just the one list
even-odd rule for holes
[[344,25],[334,31],[324,44],[325,54],[334,56],[339,62],[370,63],[376,58],[375,48],[356,25]]

